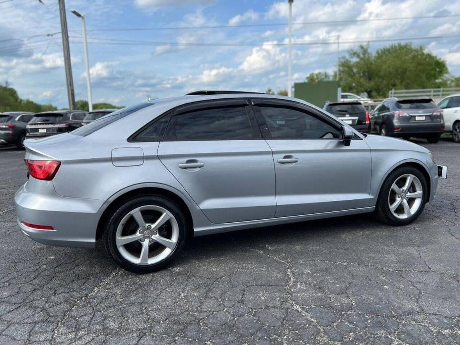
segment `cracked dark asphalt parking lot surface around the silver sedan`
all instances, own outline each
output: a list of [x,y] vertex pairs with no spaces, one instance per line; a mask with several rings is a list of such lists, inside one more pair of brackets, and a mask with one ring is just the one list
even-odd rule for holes
[[16,224],[23,151],[0,150],[0,344],[459,344],[460,145],[409,226],[371,214],[193,238],[135,275],[95,250],[41,245]]

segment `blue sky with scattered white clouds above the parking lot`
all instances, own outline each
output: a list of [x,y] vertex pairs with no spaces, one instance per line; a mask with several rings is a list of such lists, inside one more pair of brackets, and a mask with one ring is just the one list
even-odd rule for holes
[[[41,2],[0,0],[0,83],[63,107],[57,0]],[[94,103],[130,105],[197,89],[287,88],[287,0],[67,0],[66,7],[76,99],[86,98],[86,82],[81,20],[72,8],[87,21]],[[391,43],[382,40],[437,37],[413,43],[460,75],[457,14],[460,0],[295,0],[293,22],[303,24],[293,26],[294,79],[332,72],[338,35],[341,55],[356,41],[369,40],[376,50]],[[445,17],[374,20],[436,15]]]

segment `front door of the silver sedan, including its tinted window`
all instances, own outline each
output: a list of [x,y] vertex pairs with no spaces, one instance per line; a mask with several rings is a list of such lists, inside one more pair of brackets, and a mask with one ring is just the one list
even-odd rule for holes
[[368,207],[371,157],[361,138],[344,146],[339,122],[300,103],[253,102],[273,151],[275,217]]

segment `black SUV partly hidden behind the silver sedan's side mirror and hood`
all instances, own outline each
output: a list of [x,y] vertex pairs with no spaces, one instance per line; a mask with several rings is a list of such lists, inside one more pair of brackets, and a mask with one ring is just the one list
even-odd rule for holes
[[362,103],[357,101],[327,102],[324,110],[337,116],[357,131],[370,133],[370,115]]

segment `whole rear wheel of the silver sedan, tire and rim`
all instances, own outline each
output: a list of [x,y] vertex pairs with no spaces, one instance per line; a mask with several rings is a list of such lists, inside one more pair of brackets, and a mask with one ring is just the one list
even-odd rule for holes
[[103,235],[105,249],[120,267],[135,273],[165,268],[184,248],[186,217],[172,201],[141,196],[119,207]]

